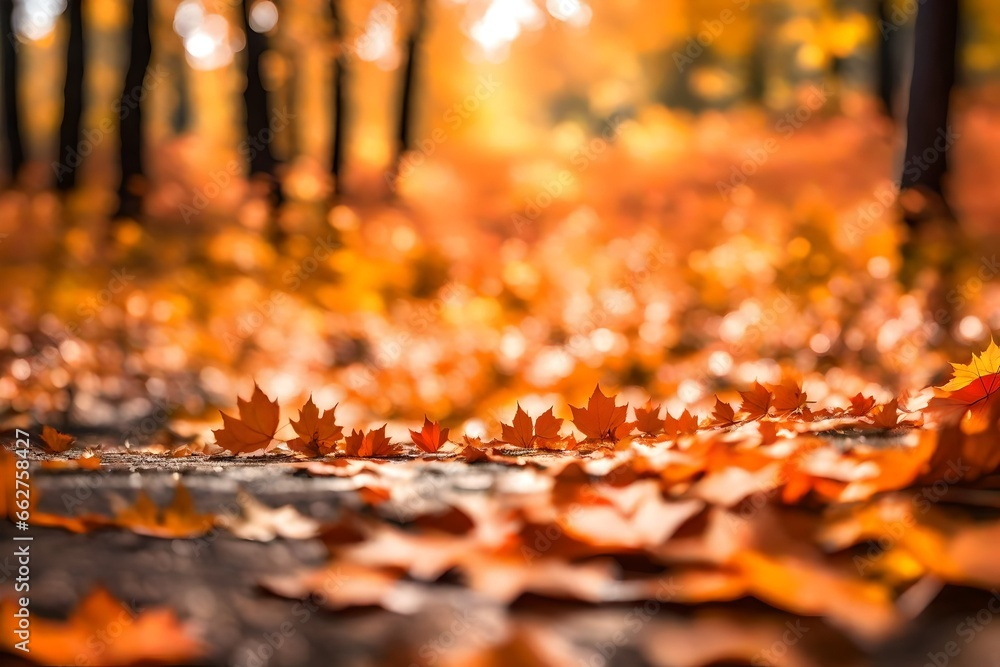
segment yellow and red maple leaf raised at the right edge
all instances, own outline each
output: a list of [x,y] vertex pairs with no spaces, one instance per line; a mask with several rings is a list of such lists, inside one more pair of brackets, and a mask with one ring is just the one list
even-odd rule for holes
[[972,355],[968,364],[952,364],[951,380],[937,387],[937,395],[927,408],[945,422],[958,422],[963,417],[968,432],[983,430],[989,423],[990,405],[1000,389],[1000,347],[990,338],[981,354]]

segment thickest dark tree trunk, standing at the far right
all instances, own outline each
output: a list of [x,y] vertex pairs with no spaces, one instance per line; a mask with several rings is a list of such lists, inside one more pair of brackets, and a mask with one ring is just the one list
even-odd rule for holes
[[948,108],[955,85],[957,0],[926,0],[917,13],[913,78],[906,116],[901,189],[923,187],[943,195],[951,133]]

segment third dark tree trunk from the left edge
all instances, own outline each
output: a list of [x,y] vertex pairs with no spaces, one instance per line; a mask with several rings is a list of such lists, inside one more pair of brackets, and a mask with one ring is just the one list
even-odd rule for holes
[[118,188],[119,215],[135,216],[142,204],[142,98],[143,80],[152,57],[153,45],[149,38],[150,0],[132,2],[132,36],[129,46],[128,71],[122,88],[121,109],[121,166],[122,179]]

